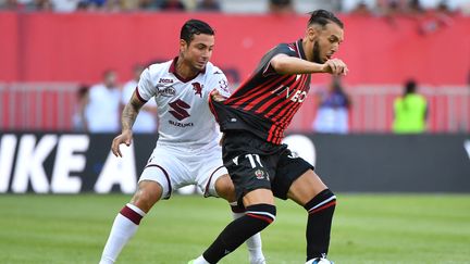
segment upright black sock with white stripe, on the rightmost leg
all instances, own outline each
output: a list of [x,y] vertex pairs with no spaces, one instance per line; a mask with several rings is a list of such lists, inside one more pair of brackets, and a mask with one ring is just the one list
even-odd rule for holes
[[325,189],[304,206],[309,213],[306,232],[307,261],[326,256],[335,205],[336,197],[330,189]]

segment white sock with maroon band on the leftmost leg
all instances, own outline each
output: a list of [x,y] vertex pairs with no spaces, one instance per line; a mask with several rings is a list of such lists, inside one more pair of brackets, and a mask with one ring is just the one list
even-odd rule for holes
[[110,236],[104,246],[100,264],[114,263],[121,250],[137,231],[145,212],[134,204],[127,203],[114,219]]

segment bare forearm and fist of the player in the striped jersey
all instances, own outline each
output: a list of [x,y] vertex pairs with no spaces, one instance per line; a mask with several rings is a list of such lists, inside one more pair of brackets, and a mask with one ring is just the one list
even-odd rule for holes
[[277,74],[330,73],[346,75],[348,72],[346,64],[339,59],[327,60],[320,64],[286,54],[277,54],[271,59],[270,63]]

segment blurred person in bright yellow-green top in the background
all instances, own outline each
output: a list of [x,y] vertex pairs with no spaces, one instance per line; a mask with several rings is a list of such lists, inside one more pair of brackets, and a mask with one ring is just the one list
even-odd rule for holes
[[393,131],[396,134],[423,133],[426,128],[428,102],[417,93],[417,83],[406,81],[404,95],[394,102]]

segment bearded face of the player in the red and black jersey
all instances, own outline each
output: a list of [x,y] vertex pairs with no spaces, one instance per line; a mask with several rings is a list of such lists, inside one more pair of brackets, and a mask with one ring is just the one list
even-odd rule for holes
[[312,58],[313,62],[324,63],[330,60],[333,54],[339,49],[339,45],[344,39],[343,29],[335,23],[329,23],[321,28],[309,29],[309,39],[312,41]]

